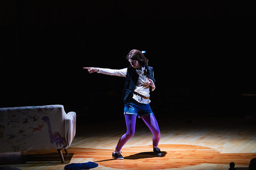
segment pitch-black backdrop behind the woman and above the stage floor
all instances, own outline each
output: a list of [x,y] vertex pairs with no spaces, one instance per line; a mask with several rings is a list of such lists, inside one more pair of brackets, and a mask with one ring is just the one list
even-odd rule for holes
[[123,119],[125,79],[82,68],[126,68],[138,49],[154,67],[156,117],[242,117],[255,23],[255,0],[1,0],[0,107]]

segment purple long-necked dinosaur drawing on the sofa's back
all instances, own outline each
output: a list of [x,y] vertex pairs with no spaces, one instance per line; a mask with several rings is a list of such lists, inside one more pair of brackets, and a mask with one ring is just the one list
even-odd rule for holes
[[52,144],[55,142],[56,146],[58,146],[58,145],[62,146],[62,145],[64,145],[64,142],[65,142],[65,145],[62,147],[62,148],[65,148],[66,147],[66,139],[64,137],[62,137],[59,132],[54,132],[52,134],[52,128],[51,128],[51,125],[50,125],[50,118],[48,116],[44,116],[42,118],[42,120],[48,124],[50,142]]

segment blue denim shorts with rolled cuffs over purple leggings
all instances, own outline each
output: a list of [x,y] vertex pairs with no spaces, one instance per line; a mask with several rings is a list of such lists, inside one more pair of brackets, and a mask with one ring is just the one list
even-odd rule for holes
[[124,104],[124,114],[137,115],[139,118],[154,115],[149,104],[139,103],[133,99]]

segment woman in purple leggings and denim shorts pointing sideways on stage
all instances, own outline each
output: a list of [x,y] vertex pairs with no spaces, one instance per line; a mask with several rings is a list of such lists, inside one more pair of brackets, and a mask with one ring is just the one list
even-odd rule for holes
[[116,149],[112,153],[114,159],[124,159],[121,149],[124,144],[134,135],[137,116],[142,118],[153,133],[153,152],[161,155],[158,148],[160,141],[160,130],[155,116],[149,106],[150,93],[155,90],[155,79],[153,68],[148,66],[148,59],[139,50],[132,50],[127,55],[130,63],[129,68],[120,70],[84,67],[89,73],[103,73],[107,75],[117,75],[126,77],[122,99],[124,101],[124,117],[126,120],[127,131],[120,138]]

